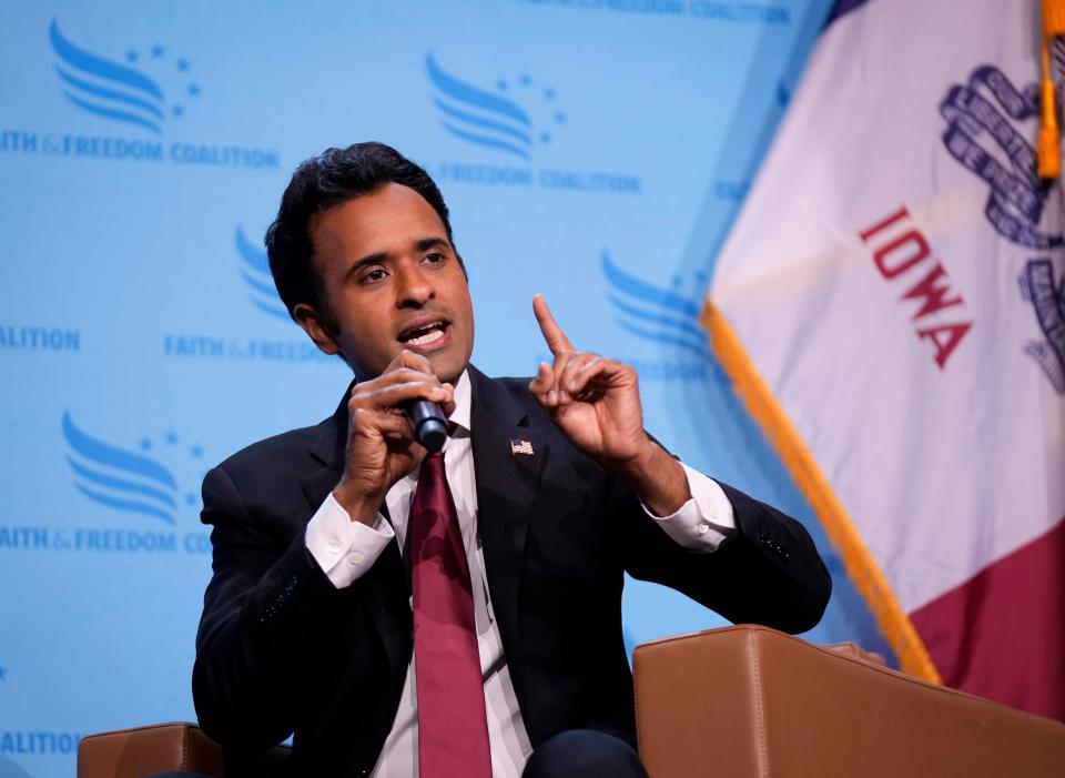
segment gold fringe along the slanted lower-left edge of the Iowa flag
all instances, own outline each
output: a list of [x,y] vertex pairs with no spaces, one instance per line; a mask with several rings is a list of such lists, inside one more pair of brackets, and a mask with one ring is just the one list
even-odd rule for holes
[[713,353],[731,378],[737,394],[805,495],[832,545],[839,549],[848,575],[876,619],[884,639],[899,657],[900,667],[917,678],[942,684],[932,657],[891,590],[880,565],[865,547],[858,528],[833,494],[798,431],[759,375],[740,339],[721,312],[710,303],[703,307],[701,321],[710,332]]

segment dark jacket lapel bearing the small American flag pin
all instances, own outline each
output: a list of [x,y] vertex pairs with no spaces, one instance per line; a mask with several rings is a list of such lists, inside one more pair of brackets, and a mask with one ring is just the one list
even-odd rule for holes
[[[529,426],[528,414],[497,383],[473,366],[469,376],[477,527],[493,610],[513,664],[521,645],[518,605],[525,545],[549,452],[544,434]],[[521,441],[531,444],[531,455],[511,452],[511,443]]]

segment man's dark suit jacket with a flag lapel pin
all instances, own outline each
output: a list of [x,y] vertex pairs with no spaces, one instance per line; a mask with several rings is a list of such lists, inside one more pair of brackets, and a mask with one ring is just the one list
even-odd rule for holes
[[[534,747],[578,727],[635,744],[626,572],[732,622],[802,632],[821,618],[831,578],[795,521],[722,484],[737,533],[712,554],[686,550],[574,448],[528,380],[469,374],[485,574]],[[307,522],[339,481],[346,432],[345,396],[331,418],[245,448],[203,484],[214,575],[196,637],[200,724],[231,754],[294,732],[295,775],[373,769],[413,650],[395,543],[344,589],[304,544]],[[529,441],[535,454],[513,455],[511,439]]]

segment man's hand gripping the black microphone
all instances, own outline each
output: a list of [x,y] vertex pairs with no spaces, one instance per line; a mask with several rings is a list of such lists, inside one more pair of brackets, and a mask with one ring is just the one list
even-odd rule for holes
[[403,406],[412,400],[453,405],[455,388],[440,383],[420,354],[403,351],[376,378],[352,387],[347,401],[344,475],[333,496],[352,521],[372,524],[385,494],[425,456]]

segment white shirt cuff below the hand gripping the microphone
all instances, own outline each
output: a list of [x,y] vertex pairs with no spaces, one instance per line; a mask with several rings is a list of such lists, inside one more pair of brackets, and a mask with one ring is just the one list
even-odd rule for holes
[[307,523],[304,543],[338,589],[358,580],[396,537],[379,513],[369,526],[353,522],[331,492]]

